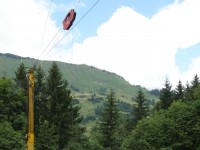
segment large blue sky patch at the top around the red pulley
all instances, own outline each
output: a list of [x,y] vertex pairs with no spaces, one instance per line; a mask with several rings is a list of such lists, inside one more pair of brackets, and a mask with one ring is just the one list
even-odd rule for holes
[[[95,8],[92,9],[92,11],[88,13],[87,17],[85,17],[85,19],[78,25],[82,35],[81,40],[88,36],[95,35],[97,28],[102,23],[106,22],[113,15],[113,13],[122,6],[131,7],[142,15],[150,18],[158,12],[159,9],[173,3],[174,1],[175,0],[100,0]],[[80,2],[79,0],[70,0],[67,2],[66,0],[54,0],[52,2],[57,5],[66,4],[66,8],[67,6],[71,6],[69,9],[74,8],[78,4],[78,8],[76,10],[77,21],[92,7],[96,0],[80,0]],[[57,25],[60,26],[68,9],[56,10],[57,11],[53,12],[52,18],[55,19]]]

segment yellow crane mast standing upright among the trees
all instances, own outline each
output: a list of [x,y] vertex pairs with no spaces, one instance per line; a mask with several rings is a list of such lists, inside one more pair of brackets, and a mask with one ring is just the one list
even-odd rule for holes
[[33,68],[28,71],[28,134],[26,150],[34,150],[34,72]]

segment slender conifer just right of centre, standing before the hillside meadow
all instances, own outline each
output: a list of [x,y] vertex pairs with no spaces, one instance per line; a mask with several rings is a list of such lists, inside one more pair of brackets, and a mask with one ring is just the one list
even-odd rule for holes
[[115,94],[113,91],[107,96],[108,103],[100,118],[100,143],[104,148],[117,149],[116,132],[118,128],[119,111],[117,109]]

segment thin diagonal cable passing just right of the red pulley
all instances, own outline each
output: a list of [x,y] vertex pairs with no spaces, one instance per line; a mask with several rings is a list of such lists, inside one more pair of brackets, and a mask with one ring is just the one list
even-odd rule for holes
[[84,18],[85,16],[98,4],[100,0],[97,0],[92,7],[74,24],[74,26],[45,54],[48,55],[70,32],[73,30]]

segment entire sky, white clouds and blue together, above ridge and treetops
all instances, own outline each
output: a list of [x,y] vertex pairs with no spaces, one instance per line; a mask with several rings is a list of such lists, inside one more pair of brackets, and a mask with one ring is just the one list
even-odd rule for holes
[[[199,0],[100,0],[81,21],[96,0],[52,0],[44,30],[50,1],[0,2],[1,53],[87,64],[150,89],[200,75]],[[77,4],[73,30],[46,47]]]

